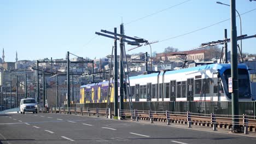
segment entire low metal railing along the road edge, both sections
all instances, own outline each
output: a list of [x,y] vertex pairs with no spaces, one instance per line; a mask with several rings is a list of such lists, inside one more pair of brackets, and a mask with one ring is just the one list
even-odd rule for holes
[[[112,111],[110,109],[98,109],[90,107],[51,107],[49,112],[59,112],[66,114],[80,114],[80,115],[94,115],[96,117],[105,116],[112,118]],[[238,122],[233,123],[232,117],[237,117]],[[212,127],[212,130],[218,128],[231,128],[231,125],[239,125],[241,131],[248,134],[248,131],[256,131],[256,116],[248,116],[246,114],[233,115],[219,115],[216,113],[193,113],[193,112],[173,112],[173,111],[152,111],[152,110],[119,110],[118,119],[131,118],[133,121],[146,120],[153,123],[154,121],[170,123],[187,124],[188,128],[191,125],[200,125]]]

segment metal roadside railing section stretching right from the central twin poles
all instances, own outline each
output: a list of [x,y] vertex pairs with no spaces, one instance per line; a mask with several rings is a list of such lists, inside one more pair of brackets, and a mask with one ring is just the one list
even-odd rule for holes
[[[151,110],[119,110],[119,117],[131,117],[134,121],[138,121],[138,119],[149,120],[151,123],[153,123],[153,121],[161,121],[166,122],[167,125],[170,125],[170,122],[172,121],[188,124],[188,128],[191,128],[191,125],[195,124],[212,127],[213,130],[216,130],[217,125],[219,128],[222,128],[223,125],[225,128],[231,128],[231,125],[233,125],[232,115],[190,113],[189,111],[171,112]],[[248,134],[248,128],[249,131],[252,131],[252,129],[256,130],[256,116],[247,116],[244,114],[237,117],[238,122],[234,124],[240,125],[245,134]]]

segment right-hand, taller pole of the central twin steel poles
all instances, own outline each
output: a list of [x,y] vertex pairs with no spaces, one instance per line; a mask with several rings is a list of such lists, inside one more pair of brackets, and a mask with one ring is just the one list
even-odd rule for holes
[[120,110],[124,110],[124,67],[123,67],[123,55],[124,55],[124,42],[123,37],[124,35],[124,25],[123,23],[120,25],[120,58],[119,58],[119,64],[120,64]]

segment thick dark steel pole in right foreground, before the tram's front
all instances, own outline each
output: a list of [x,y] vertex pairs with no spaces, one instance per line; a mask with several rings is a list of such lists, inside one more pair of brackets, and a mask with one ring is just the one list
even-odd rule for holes
[[237,69],[237,34],[236,34],[236,1],[230,0],[231,11],[231,77],[232,77],[232,132],[239,130],[238,107],[238,69]]

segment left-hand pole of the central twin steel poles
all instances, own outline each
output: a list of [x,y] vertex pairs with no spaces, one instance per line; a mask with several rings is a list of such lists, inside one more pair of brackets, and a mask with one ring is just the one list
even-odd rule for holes
[[[117,28],[114,28],[114,37],[117,37]],[[114,39],[114,115],[118,116],[118,62],[117,62],[117,39]]]

